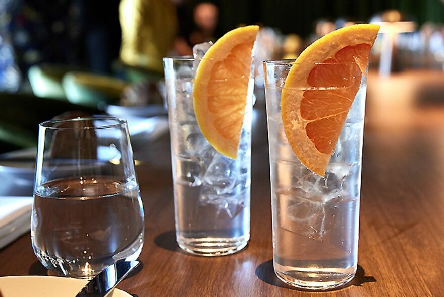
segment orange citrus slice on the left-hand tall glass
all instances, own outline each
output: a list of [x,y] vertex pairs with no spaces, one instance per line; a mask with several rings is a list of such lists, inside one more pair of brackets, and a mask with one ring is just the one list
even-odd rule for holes
[[194,112],[208,142],[236,159],[258,26],[229,31],[203,56],[193,83]]

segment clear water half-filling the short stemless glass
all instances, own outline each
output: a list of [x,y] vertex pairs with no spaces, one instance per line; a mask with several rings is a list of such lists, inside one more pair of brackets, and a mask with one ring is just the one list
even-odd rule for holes
[[82,176],[42,184],[34,191],[31,239],[48,270],[74,278],[137,259],[144,240],[137,183]]

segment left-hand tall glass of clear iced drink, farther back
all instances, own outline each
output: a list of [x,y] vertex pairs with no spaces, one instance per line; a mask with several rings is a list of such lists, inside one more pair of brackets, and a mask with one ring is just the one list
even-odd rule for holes
[[196,121],[192,90],[199,60],[175,57],[163,62],[177,242],[202,256],[235,253],[250,238],[252,76],[237,159],[231,159],[214,150]]

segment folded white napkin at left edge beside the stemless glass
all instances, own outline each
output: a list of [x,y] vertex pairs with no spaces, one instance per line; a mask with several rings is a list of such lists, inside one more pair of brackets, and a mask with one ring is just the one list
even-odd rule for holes
[[29,231],[33,197],[0,197],[0,249]]

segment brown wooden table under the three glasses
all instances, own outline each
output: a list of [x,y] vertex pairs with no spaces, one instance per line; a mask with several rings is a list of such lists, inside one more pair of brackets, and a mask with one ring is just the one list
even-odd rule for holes
[[[188,255],[178,248],[169,138],[165,135],[136,152],[136,158],[144,161],[137,167],[146,215],[140,256],[143,267],[119,287],[139,297],[442,296],[444,92],[435,90],[432,100],[421,103],[423,93],[413,92],[411,86],[416,84],[421,90],[421,84],[434,79],[440,81],[436,86],[444,86],[442,72],[407,72],[384,79],[371,75],[368,80],[359,268],[345,287],[303,292],[274,276],[266,119],[260,102],[253,126],[251,240],[247,248],[216,258]],[[410,93],[405,86],[410,86]],[[437,106],[433,101],[439,98],[442,102]],[[0,276],[46,275],[32,252],[29,233],[0,250],[0,263]]]

